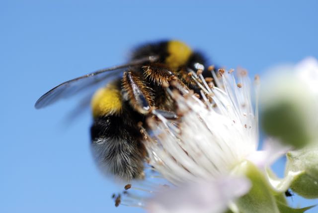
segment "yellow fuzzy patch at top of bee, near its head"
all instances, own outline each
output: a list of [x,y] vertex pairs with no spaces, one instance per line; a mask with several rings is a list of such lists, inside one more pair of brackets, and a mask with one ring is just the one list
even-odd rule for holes
[[173,69],[184,65],[192,54],[192,50],[188,45],[176,40],[168,42],[167,52],[169,56],[165,59],[165,63]]

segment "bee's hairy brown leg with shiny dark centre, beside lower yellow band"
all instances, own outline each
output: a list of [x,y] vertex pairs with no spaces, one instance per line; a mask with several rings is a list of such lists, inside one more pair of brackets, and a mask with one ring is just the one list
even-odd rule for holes
[[142,77],[131,71],[123,75],[123,97],[130,105],[141,114],[148,114],[154,106],[154,91],[146,85]]

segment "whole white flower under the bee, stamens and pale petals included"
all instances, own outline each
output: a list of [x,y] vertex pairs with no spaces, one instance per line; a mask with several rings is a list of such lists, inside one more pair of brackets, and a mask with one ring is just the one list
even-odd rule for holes
[[[157,194],[164,187],[153,179],[151,187],[146,184],[138,189],[156,192],[157,196],[145,199],[129,194],[126,204],[146,206],[153,213],[222,213],[227,208],[238,212],[235,200],[251,187],[248,178],[237,172],[241,165],[246,168],[246,162],[260,168],[274,191],[282,193],[288,189],[295,174],[288,174],[283,180],[267,174],[269,164],[288,148],[270,142],[264,150],[257,151],[257,101],[254,109],[246,71],[239,71],[238,82],[232,70],[212,74],[218,87],[208,85],[200,73],[192,72],[203,101],[178,84],[174,85],[181,95],[167,88],[178,106],[180,119],[166,119],[155,109],[155,117],[147,122],[150,130],[143,132],[148,164],[172,187]],[[258,81],[256,77],[256,91]]]

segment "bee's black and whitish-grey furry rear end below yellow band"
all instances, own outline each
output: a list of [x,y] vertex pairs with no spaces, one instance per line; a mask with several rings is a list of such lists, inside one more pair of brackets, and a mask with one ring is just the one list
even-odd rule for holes
[[98,117],[91,126],[91,148],[98,166],[126,180],[142,177],[145,157],[140,132],[128,119]]

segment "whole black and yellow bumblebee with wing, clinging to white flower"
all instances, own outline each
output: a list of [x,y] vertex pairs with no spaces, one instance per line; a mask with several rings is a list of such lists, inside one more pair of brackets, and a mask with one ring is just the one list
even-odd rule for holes
[[184,88],[199,90],[189,72],[200,69],[210,77],[205,63],[202,54],[177,40],[144,44],[133,51],[129,63],[64,82],[44,94],[35,108],[104,84],[90,102],[92,153],[102,171],[125,180],[141,179],[147,153],[138,123],[153,108],[169,119],[176,118],[176,106],[163,86],[177,81]]

